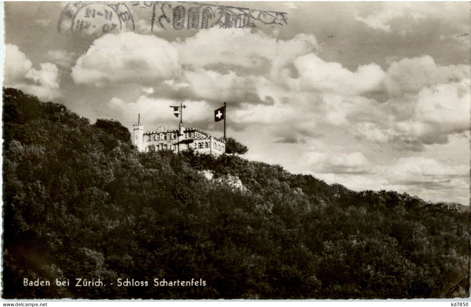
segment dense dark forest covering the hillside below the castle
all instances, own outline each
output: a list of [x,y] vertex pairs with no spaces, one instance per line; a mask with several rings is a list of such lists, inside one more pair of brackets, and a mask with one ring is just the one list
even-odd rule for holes
[[[138,153],[118,122],[90,125],[16,89],[3,92],[3,138],[4,298],[438,298],[466,287],[470,214],[444,203],[232,155]],[[229,175],[244,188],[216,180]]]

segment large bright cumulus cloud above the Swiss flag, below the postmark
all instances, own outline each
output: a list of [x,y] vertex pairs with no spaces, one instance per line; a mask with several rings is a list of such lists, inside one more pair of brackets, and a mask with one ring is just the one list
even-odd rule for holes
[[211,28],[172,42],[178,49],[181,75],[163,81],[167,88],[161,93],[165,95],[170,88],[173,97],[182,99],[275,104],[267,86],[289,83],[284,80],[295,73],[292,60],[317,46],[312,35],[298,34],[292,40],[280,40],[276,35]]

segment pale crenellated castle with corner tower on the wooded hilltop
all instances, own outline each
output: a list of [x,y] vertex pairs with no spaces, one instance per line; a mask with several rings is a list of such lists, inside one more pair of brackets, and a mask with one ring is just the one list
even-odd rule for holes
[[144,131],[144,125],[133,125],[132,144],[140,152],[172,150],[180,152],[193,148],[200,153],[220,155],[226,152],[226,141],[197,128],[185,128],[180,121],[179,128],[167,130],[161,126],[155,131]]

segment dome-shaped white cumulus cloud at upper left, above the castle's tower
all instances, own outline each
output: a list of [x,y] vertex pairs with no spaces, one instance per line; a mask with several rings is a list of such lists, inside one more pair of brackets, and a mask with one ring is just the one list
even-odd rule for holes
[[179,57],[167,40],[133,32],[106,34],[72,67],[76,83],[96,86],[166,80],[179,74]]

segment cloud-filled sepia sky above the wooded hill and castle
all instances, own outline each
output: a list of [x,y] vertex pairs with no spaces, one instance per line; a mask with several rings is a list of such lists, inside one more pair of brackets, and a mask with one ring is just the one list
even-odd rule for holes
[[58,32],[66,4],[5,2],[4,86],[91,122],[140,113],[146,130],[176,128],[182,102],[187,127],[218,137],[227,102],[247,159],[469,204],[469,2],[224,2],[288,24],[152,32],[152,10],[130,6],[135,29],[113,33]]

